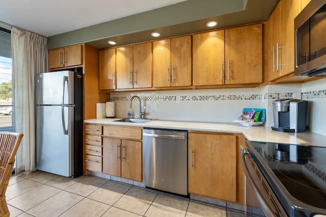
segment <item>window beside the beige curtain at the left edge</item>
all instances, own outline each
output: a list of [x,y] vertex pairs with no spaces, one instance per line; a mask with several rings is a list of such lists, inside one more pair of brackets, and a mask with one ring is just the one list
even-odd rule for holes
[[10,30],[0,27],[0,131],[15,131]]

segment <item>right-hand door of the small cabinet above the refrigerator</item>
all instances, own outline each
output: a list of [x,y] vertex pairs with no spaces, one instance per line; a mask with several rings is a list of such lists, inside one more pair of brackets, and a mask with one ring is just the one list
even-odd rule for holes
[[83,45],[65,47],[65,67],[83,65]]

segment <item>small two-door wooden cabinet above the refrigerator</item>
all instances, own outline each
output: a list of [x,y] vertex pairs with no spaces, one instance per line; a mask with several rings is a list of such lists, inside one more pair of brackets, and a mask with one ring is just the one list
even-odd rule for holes
[[82,44],[49,50],[48,54],[49,69],[83,65]]

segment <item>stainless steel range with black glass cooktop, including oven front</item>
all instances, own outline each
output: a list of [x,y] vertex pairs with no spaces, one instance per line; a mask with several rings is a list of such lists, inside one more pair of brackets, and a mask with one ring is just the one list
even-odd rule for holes
[[266,216],[326,216],[326,147],[247,141],[242,164]]

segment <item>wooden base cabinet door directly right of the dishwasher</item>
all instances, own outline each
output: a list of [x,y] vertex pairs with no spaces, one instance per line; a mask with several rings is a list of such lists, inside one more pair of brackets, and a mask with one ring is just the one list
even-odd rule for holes
[[189,193],[236,201],[235,136],[188,133],[188,163]]

